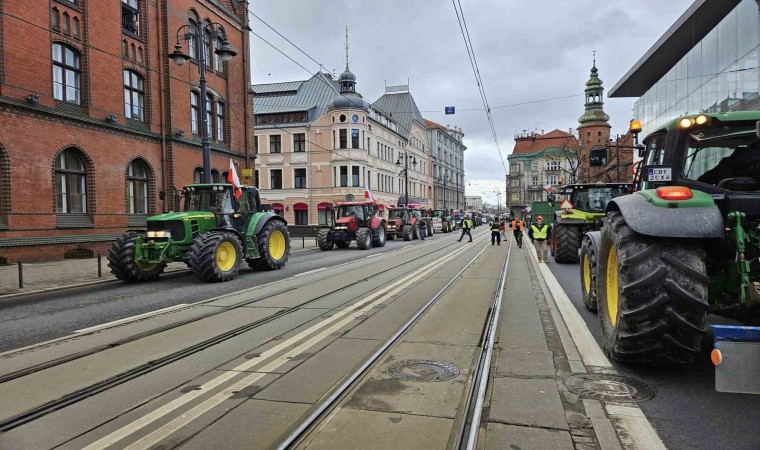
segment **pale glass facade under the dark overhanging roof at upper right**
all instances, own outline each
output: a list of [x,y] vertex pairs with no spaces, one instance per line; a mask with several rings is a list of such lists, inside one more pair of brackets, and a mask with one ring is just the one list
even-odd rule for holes
[[760,20],[742,0],[634,106],[646,136],[685,114],[760,109]]

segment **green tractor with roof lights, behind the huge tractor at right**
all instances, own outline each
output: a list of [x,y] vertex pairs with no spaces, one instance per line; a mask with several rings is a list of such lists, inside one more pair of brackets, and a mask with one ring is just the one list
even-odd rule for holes
[[[625,183],[568,184],[558,193],[565,196],[561,208],[554,211],[552,237],[549,249],[554,261],[560,264],[578,262],[583,234],[599,230],[604,219],[605,208],[613,198],[631,192],[631,185]],[[563,208],[568,202],[569,208]],[[536,213],[533,217],[536,217]],[[545,221],[546,222],[546,221]]]

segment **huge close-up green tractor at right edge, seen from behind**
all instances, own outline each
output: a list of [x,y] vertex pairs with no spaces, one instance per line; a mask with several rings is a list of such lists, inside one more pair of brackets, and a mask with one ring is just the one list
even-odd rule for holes
[[[758,323],[758,121],[760,111],[686,116],[637,146],[635,192],[607,205],[581,249],[583,302],[598,309],[612,359],[689,363],[708,313]],[[592,165],[605,160],[592,150]]]

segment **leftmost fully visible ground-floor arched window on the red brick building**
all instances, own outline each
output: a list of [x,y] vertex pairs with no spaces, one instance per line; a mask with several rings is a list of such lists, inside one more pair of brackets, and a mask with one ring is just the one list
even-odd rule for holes
[[55,159],[55,212],[87,212],[87,171],[74,148],[67,148]]

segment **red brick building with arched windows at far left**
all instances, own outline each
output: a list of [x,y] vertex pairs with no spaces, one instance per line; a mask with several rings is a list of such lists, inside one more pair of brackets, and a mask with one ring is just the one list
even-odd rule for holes
[[[210,55],[212,176],[230,158],[248,167],[247,4],[0,2],[0,262],[103,252],[200,180],[198,52]],[[190,62],[167,57],[180,27],[210,23],[238,56],[183,32]]]

